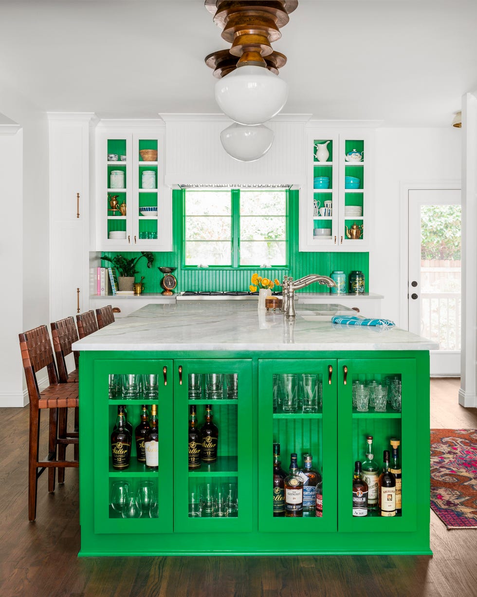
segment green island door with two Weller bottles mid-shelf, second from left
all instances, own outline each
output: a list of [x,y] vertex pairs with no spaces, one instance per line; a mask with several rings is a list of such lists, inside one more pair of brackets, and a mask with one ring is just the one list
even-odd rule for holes
[[174,361],[174,531],[251,531],[251,381],[250,359]]

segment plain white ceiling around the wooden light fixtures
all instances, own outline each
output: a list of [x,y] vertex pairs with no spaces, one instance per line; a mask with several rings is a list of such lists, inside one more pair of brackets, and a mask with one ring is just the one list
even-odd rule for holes
[[[217,113],[203,0],[0,0],[1,87],[100,118]],[[299,0],[273,44],[284,113],[450,125],[477,89],[476,0]],[[5,114],[8,116],[8,113]]]

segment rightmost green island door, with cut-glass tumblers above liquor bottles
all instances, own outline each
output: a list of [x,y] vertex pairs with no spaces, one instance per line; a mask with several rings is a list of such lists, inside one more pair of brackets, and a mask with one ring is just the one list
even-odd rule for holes
[[[338,360],[338,530],[416,530],[418,478],[423,472],[416,463],[422,455],[416,445],[416,361],[414,359]],[[373,438],[372,461],[368,469],[368,501],[379,493],[376,476],[383,467],[383,451],[392,453],[391,440],[399,442],[401,473],[396,481],[395,516],[380,516],[378,506],[368,506],[367,516],[352,515],[352,480],[355,461],[367,458],[367,437]],[[396,443],[396,442],[395,442]],[[429,454],[426,482],[429,485]],[[367,458],[369,462],[370,459]],[[365,464],[362,465],[365,469]],[[377,469],[377,473],[375,472]],[[421,470],[421,472],[420,472]],[[401,479],[399,479],[401,476]],[[399,491],[401,485],[401,492]],[[401,496],[399,496],[401,493]],[[429,499],[429,491],[426,494]],[[400,510],[400,511],[399,511]]]

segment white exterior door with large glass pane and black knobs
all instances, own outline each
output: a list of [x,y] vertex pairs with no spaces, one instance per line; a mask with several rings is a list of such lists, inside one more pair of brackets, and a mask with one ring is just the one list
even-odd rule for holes
[[439,344],[430,374],[460,375],[460,190],[409,190],[409,330]]

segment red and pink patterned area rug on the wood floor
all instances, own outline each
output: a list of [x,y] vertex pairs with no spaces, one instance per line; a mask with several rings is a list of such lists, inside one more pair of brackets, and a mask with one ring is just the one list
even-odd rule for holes
[[430,507],[447,529],[477,528],[477,430],[430,430]]

